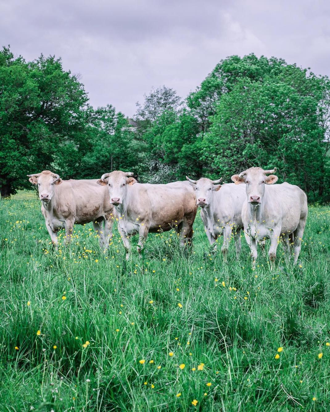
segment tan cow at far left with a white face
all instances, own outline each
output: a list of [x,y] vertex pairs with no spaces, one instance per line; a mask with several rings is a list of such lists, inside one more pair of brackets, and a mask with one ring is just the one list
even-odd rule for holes
[[89,222],[93,222],[99,234],[101,249],[105,251],[108,248],[112,236],[113,206],[108,190],[100,187],[97,179],[62,180],[49,170],[27,176],[33,185],[38,185],[41,212],[56,248],[60,229],[65,228],[66,241],[70,242],[74,223],[84,225]]

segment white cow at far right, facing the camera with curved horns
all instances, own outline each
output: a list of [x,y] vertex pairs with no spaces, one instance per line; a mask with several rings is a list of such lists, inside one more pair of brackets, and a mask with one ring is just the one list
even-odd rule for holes
[[270,239],[271,242],[268,253],[271,267],[281,237],[290,252],[293,245],[294,262],[297,263],[306,225],[308,208],[305,192],[286,182],[273,185],[278,177],[271,173],[276,173],[276,168],[263,170],[251,167],[231,176],[236,184],[245,183],[242,220],[253,268],[257,259],[257,241],[262,239]]

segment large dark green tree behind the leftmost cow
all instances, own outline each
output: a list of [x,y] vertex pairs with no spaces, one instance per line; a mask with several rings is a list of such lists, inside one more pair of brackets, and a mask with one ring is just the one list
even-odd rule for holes
[[[0,192],[28,187],[27,173],[67,169],[72,175],[85,130],[87,95],[61,59],[33,62],[0,52]],[[69,173],[69,174],[70,174]]]

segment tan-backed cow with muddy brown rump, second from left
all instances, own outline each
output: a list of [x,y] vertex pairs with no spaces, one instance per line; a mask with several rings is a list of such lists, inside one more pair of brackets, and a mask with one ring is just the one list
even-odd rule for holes
[[114,206],[118,231],[130,256],[128,238],[139,234],[137,250],[141,257],[149,232],[180,230],[180,246],[191,242],[197,205],[189,183],[174,182],[164,185],[137,183],[132,172],[104,173],[97,183],[107,186]]

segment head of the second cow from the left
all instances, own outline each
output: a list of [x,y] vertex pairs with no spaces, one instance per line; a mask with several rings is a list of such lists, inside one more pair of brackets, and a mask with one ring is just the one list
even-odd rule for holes
[[132,178],[132,172],[122,172],[115,170],[111,173],[104,173],[97,183],[101,186],[108,186],[110,203],[118,206],[123,203],[126,197],[127,186],[134,185],[137,181]]

